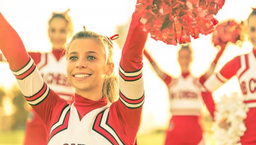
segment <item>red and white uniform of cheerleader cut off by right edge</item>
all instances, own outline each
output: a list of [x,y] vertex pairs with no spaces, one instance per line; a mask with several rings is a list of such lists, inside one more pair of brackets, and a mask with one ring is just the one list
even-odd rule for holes
[[229,61],[219,73],[209,77],[204,86],[211,92],[217,90],[232,76],[237,76],[244,103],[250,108],[245,125],[247,130],[241,137],[242,145],[256,144],[256,49]]

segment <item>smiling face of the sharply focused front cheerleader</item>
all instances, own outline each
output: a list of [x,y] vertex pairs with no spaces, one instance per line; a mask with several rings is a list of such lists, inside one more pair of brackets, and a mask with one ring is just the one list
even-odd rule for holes
[[94,39],[75,39],[69,45],[67,77],[79,95],[92,91],[102,94],[104,78],[113,71],[111,65],[106,63],[106,56]]

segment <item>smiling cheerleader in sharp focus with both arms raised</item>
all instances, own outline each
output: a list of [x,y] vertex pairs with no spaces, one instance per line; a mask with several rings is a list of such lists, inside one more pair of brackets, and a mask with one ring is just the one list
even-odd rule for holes
[[90,31],[73,36],[66,49],[67,77],[76,92],[70,105],[43,81],[20,37],[0,14],[0,49],[25,99],[45,124],[49,145],[134,144],[144,103],[142,56],[147,38],[138,18],[132,16],[122,50],[119,88],[110,38]]

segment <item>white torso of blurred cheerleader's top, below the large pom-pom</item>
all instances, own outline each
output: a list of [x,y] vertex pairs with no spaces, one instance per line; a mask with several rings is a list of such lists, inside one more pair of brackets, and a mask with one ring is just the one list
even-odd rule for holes
[[188,75],[172,80],[169,87],[170,109],[172,115],[201,115],[203,87],[197,78]]

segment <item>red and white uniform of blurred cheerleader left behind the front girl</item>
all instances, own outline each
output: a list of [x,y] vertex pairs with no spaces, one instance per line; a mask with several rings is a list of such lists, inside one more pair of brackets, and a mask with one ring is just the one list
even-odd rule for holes
[[[43,80],[60,97],[70,101],[75,93],[66,77],[66,58],[62,50],[53,49],[51,53],[29,52]],[[0,61],[6,61],[0,54]],[[32,136],[33,132],[40,132]],[[47,134],[43,122],[31,109],[25,129],[24,145],[47,145]]]

